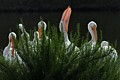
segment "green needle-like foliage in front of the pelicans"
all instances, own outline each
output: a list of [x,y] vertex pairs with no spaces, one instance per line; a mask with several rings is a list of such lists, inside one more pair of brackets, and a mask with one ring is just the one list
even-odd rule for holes
[[[63,34],[54,26],[43,32],[41,40],[36,40],[35,44],[30,44],[26,35],[18,37],[14,40],[15,49],[23,63],[10,64],[1,55],[0,80],[120,80],[119,57],[116,61],[108,57],[111,51],[99,50],[100,44],[92,48],[86,44],[87,38],[78,44],[79,29],[71,37],[74,44],[69,52]],[[80,50],[75,51],[74,45]]]

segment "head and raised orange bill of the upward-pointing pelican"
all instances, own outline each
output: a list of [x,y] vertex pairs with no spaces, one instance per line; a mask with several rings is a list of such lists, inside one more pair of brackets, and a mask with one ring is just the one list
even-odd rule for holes
[[[61,32],[63,32],[62,30],[68,32],[68,24],[69,24],[69,19],[70,19],[70,15],[71,15],[71,7],[68,6],[67,9],[65,9],[65,11],[62,14],[62,18],[59,24],[59,29]],[[62,28],[64,27],[64,28]]]

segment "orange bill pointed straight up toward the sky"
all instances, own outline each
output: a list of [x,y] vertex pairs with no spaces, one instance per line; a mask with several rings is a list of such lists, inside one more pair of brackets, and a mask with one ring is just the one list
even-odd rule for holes
[[64,22],[64,27],[65,27],[66,32],[68,32],[68,25],[69,25],[69,19],[70,19],[71,12],[72,12],[71,7],[68,6],[62,15],[61,20]]

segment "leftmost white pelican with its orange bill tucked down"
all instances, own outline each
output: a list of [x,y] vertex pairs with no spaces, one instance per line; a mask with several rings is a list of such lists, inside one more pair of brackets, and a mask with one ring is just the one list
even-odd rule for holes
[[9,60],[10,63],[12,63],[13,61],[16,61],[17,59],[20,63],[22,63],[22,59],[19,57],[19,55],[17,54],[14,48],[13,39],[16,39],[16,34],[14,32],[11,32],[9,34],[9,43],[3,50],[3,56],[5,57],[5,60]]

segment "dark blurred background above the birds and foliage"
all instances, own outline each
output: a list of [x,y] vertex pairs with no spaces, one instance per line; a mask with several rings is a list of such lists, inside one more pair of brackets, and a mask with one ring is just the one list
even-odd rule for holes
[[72,8],[69,32],[76,31],[76,24],[80,23],[82,38],[88,33],[88,22],[94,20],[98,25],[98,36],[102,31],[103,40],[117,41],[117,47],[120,47],[119,0],[0,0],[0,49],[8,44],[10,31],[17,33],[20,19],[28,32],[37,28],[40,16],[58,27],[68,5]]

